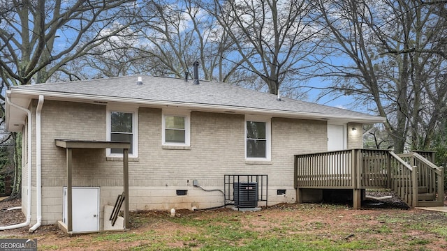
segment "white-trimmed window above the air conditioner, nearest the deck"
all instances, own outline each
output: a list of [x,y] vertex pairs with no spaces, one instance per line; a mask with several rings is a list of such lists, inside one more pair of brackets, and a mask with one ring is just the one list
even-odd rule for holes
[[246,119],[245,158],[270,160],[270,119]]

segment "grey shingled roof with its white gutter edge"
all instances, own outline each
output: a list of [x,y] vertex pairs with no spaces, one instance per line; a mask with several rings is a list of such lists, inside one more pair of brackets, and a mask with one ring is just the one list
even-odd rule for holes
[[[142,84],[137,84],[138,77]],[[383,122],[383,118],[347,109],[319,105],[313,102],[281,98],[270,93],[244,89],[221,82],[193,81],[171,77],[128,76],[107,79],[91,79],[75,82],[57,82],[13,86],[8,95],[38,95],[45,99],[72,98],[98,100],[98,102],[131,102],[141,106],[177,106],[194,110],[213,110],[222,112],[259,113],[270,116],[284,116],[303,119],[347,119],[360,123]]]

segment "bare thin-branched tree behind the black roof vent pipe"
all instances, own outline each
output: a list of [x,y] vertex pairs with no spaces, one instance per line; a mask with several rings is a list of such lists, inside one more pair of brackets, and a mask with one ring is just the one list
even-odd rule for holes
[[139,54],[146,56],[144,65],[151,66],[152,73],[184,77],[198,60],[203,79],[230,81],[239,65],[226,61],[228,33],[202,5],[200,0],[147,1],[145,11],[154,18],[145,22],[141,35],[147,44],[139,47]]

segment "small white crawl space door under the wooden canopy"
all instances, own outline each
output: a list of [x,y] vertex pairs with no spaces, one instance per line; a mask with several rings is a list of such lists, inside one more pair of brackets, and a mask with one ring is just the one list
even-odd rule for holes
[[[72,217],[73,231],[99,230],[99,188],[73,187],[72,188]],[[67,225],[67,188],[64,187],[64,211],[62,222]]]

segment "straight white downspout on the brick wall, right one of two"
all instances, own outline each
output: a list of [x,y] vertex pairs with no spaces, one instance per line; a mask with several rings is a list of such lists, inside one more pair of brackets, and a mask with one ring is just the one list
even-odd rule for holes
[[36,215],[37,222],[29,229],[34,232],[42,224],[42,134],[41,134],[41,111],[43,106],[43,95],[39,95],[36,108]]

